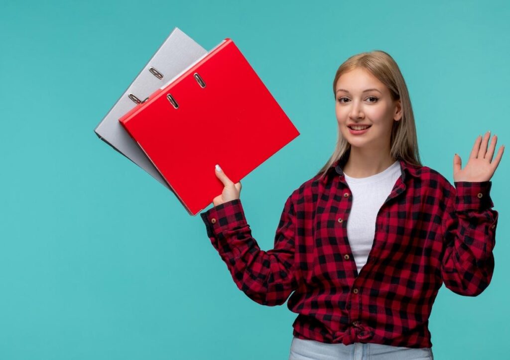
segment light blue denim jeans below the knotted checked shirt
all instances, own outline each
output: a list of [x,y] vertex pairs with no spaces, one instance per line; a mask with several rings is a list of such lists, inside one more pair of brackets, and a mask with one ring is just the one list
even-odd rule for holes
[[433,360],[431,348],[380,344],[325,344],[294,337],[289,360]]

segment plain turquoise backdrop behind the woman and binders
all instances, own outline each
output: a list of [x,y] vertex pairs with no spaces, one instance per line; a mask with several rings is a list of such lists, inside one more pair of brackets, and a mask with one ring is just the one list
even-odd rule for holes
[[[285,199],[334,150],[331,83],[353,54],[394,57],[423,164],[450,182],[477,135],[508,144],[508,18],[503,1],[2,0],[0,358],[288,358],[296,314],[238,290],[200,217],[93,132],[174,27],[208,50],[232,38],[301,133],[242,179],[268,250]],[[508,156],[492,284],[441,288],[438,360],[508,356]]]

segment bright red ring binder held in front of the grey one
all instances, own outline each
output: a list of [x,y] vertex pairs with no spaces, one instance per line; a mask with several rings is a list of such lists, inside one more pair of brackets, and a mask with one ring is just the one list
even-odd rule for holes
[[299,135],[229,38],[119,121],[193,216]]

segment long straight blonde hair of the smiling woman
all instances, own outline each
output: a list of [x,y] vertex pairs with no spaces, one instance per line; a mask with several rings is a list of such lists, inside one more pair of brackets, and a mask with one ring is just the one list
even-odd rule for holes
[[[393,121],[391,132],[391,150],[392,159],[402,159],[414,165],[422,166],[418,151],[418,140],[416,137],[416,125],[411,106],[411,99],[404,78],[397,63],[393,58],[382,50],[374,50],[368,53],[361,53],[351,56],[337,70],[333,80],[333,96],[336,101],[336,85],[340,75],[355,68],[363,68],[372,73],[381,83],[385,84],[390,90],[393,100],[400,99],[402,104],[402,118],[399,121]],[[319,170],[317,175],[322,179],[327,170],[337,160],[344,155],[348,155],[350,144],[342,136],[340,128],[338,129],[338,140],[333,155],[327,163]],[[315,175],[315,176],[317,176]]]

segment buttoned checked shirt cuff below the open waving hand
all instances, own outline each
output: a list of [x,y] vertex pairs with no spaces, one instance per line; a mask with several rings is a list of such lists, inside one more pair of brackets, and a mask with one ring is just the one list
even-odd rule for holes
[[483,182],[454,182],[456,197],[455,210],[485,210],[494,207],[490,190],[491,181]]

